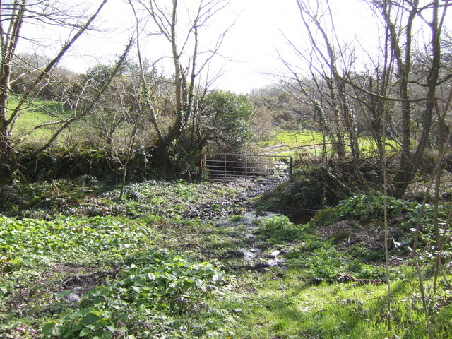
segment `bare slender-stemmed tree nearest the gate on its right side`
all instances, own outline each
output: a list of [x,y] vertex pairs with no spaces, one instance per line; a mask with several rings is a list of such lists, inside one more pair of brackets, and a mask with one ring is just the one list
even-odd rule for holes
[[319,121],[339,157],[345,156],[345,145],[349,145],[355,172],[360,177],[357,118],[348,94],[350,86],[343,81],[352,70],[355,56],[348,45],[338,43],[328,0],[318,1],[314,6],[311,1],[297,0],[297,7],[311,44],[310,49],[304,51],[287,39],[305,67],[300,74],[298,65],[280,56],[291,73],[286,83],[294,97],[302,98],[311,106],[311,116]]

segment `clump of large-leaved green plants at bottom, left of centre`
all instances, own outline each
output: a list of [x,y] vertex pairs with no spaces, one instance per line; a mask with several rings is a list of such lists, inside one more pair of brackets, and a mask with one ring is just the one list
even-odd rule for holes
[[[207,263],[165,251],[139,256],[109,285],[95,287],[80,306],[44,324],[44,337],[149,338],[166,335],[160,319],[193,314],[201,300],[218,290],[222,274]],[[63,293],[59,293],[59,296]],[[173,338],[186,331],[170,328]]]

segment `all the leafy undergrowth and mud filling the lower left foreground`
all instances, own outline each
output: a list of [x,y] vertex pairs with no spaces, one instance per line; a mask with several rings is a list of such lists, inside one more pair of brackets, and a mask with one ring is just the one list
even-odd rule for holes
[[223,273],[157,250],[153,227],[125,218],[1,217],[1,338],[205,333],[194,314],[223,288]]

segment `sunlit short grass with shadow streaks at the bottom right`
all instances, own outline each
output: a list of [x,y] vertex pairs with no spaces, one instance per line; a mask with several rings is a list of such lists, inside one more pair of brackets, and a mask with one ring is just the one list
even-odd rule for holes
[[[409,278],[391,284],[392,331],[386,323],[385,284],[309,285],[298,270],[290,269],[282,279],[266,273],[252,300],[239,305],[245,315],[236,328],[238,338],[426,338],[413,270],[398,269]],[[450,316],[451,307],[436,309],[436,317]],[[451,321],[441,324],[435,330],[437,338],[450,338],[444,335]]]

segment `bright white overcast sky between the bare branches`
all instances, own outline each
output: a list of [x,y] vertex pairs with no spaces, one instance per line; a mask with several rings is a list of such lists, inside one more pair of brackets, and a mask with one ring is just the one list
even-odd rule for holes
[[[80,3],[77,0],[68,1]],[[169,0],[164,1],[168,3]],[[197,1],[179,2],[193,4]],[[340,40],[359,41],[367,50],[375,48],[375,24],[366,5],[359,0],[330,0],[330,3]],[[87,1],[86,4],[93,6],[100,4],[100,0]],[[275,75],[285,72],[278,53],[293,64],[299,62],[286,37],[299,49],[309,47],[295,0],[230,0],[230,4],[216,13],[214,20],[201,31],[201,47],[211,47],[220,32],[232,23],[234,25],[225,35],[219,54],[210,65],[210,75],[221,73],[213,84],[215,88],[249,93],[252,89],[270,85],[275,82]],[[115,56],[123,51],[133,30],[130,6],[124,0],[109,0],[95,25],[102,32],[90,32],[83,36],[65,57],[64,66],[83,72],[96,63],[114,61]],[[180,27],[184,28],[183,22]],[[59,34],[62,41],[67,32]],[[144,40],[142,46],[143,54],[150,60],[169,55],[168,45],[161,37]],[[171,75],[169,62],[159,67],[168,76]]]

